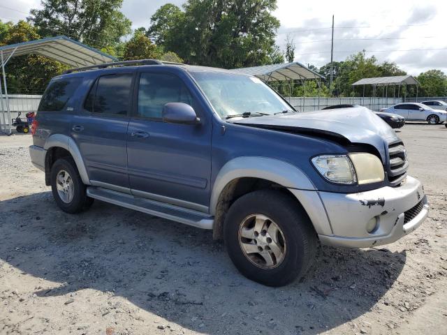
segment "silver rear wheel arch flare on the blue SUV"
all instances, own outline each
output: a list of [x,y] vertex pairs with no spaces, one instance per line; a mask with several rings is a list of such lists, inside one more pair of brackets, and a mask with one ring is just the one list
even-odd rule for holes
[[62,134],[50,135],[45,141],[43,149],[47,151],[47,154],[45,155],[45,184],[50,185],[50,170],[52,163],[54,163],[57,158],[66,156],[71,156],[73,161],[75,161],[82,183],[85,185],[90,184],[87,168],[85,168],[85,163],[82,159],[78,145],[76,145],[71,137]]

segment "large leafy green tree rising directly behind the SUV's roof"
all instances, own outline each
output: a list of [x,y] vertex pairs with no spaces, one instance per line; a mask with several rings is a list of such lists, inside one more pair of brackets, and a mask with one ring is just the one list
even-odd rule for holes
[[188,0],[184,10],[163,6],[149,36],[188,64],[240,68],[283,59],[274,45],[276,0]]

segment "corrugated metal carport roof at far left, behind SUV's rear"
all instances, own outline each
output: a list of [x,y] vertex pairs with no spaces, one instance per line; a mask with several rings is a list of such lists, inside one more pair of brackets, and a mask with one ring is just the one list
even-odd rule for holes
[[110,61],[117,61],[117,58],[105,54],[99,50],[82,44],[77,40],[72,40],[66,36],[56,36],[42,38],[41,40],[30,40],[0,47],[3,51],[3,58],[8,59],[9,55],[22,56],[24,54],[40,54],[69,66],[89,66],[103,64]]

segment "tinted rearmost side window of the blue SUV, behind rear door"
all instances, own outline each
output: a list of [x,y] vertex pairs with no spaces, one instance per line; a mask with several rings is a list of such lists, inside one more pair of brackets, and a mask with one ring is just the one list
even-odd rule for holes
[[56,112],[62,110],[81,82],[82,77],[59,79],[50,82],[41,98],[38,111]]

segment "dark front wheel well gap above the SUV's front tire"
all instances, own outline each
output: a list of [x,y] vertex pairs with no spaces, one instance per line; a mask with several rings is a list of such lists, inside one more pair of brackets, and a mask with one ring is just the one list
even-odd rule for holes
[[223,239],[223,223],[231,204],[247,193],[253,191],[272,189],[284,192],[295,200],[297,206],[302,207],[298,199],[286,187],[267,179],[254,177],[240,177],[233,179],[223,188],[217,201],[214,214],[213,239]]

